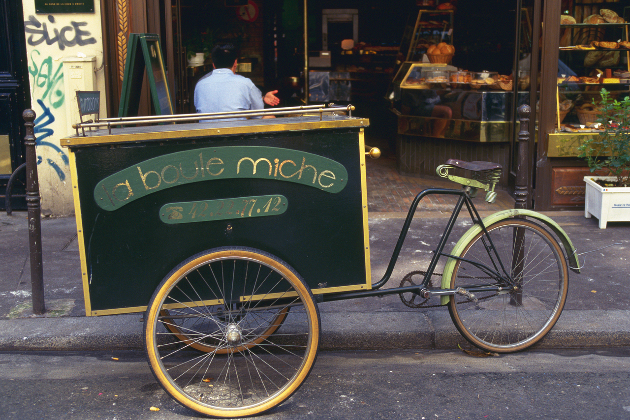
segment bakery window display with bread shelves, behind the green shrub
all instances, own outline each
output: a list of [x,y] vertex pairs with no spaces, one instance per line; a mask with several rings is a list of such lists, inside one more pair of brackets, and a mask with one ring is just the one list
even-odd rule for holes
[[[575,2],[569,13],[561,16],[561,1],[546,4],[550,13],[542,28],[542,48],[547,51],[541,58],[537,106],[542,141],[536,149],[536,210],[584,206],[583,178],[590,171],[578,157],[578,147],[587,137],[599,134],[590,127],[597,118],[597,110],[590,104],[600,100],[602,89],[617,98],[630,93],[630,83],[624,77],[630,56],[625,48],[630,18],[626,5]],[[609,11],[617,13],[614,21]],[[576,23],[569,23],[571,20]]]

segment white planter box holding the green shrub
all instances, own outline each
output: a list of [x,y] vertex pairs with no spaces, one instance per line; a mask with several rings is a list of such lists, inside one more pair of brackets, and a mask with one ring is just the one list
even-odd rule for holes
[[614,181],[613,176],[585,176],[586,196],[584,217],[595,216],[599,228],[606,229],[607,222],[630,221],[630,187],[604,188],[591,178]]

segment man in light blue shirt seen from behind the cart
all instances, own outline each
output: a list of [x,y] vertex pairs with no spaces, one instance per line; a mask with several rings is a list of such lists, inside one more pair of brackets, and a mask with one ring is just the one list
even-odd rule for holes
[[238,52],[231,43],[212,48],[214,71],[199,79],[195,86],[198,113],[261,110],[265,103],[271,106],[280,103],[275,96],[278,91],[270,91],[263,96],[251,80],[235,74],[237,58]]

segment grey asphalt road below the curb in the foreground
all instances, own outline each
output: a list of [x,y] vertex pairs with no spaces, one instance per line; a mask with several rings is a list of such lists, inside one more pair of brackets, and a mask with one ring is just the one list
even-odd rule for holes
[[[256,418],[630,419],[629,350],[321,352],[301,389]],[[0,365],[0,419],[195,417],[140,352],[0,353]]]

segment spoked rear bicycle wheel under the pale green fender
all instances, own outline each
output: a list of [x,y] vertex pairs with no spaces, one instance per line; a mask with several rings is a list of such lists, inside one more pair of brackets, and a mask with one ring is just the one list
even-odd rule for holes
[[450,317],[474,346],[496,353],[520,351],[558,321],[568,292],[568,267],[558,241],[537,224],[506,219],[487,230],[498,256],[483,231],[467,244],[450,287],[469,295],[450,297]]

